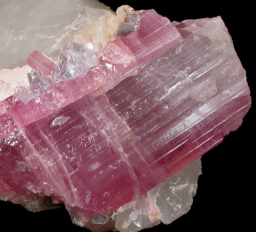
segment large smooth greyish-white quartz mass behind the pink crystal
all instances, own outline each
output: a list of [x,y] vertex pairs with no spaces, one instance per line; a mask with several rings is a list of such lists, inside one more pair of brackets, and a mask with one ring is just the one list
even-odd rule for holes
[[4,22],[0,25],[0,69],[25,65],[34,50],[57,60],[64,47],[74,41],[77,31],[113,13],[95,0],[52,3],[51,0],[0,2],[0,21]]

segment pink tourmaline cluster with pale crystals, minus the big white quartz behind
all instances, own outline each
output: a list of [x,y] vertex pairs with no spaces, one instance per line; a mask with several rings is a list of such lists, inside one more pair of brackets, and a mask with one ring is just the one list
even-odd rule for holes
[[0,70],[0,199],[64,203],[92,231],[169,224],[192,204],[198,158],[250,108],[245,70],[221,17],[103,12]]

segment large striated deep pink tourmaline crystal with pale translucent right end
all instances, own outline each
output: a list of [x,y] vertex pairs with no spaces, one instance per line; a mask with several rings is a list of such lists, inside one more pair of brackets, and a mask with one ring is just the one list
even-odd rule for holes
[[[239,126],[251,99],[232,45],[192,33],[194,21],[140,17],[85,74],[28,103],[0,103],[0,195],[51,196],[87,221],[85,211],[117,210]],[[45,75],[56,68],[36,51],[28,64]]]

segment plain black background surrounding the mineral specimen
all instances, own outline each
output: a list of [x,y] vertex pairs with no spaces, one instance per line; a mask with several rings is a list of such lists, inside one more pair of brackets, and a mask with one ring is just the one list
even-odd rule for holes
[[[103,1],[115,10],[130,4],[135,10],[154,8],[171,21],[216,17],[221,15],[232,36],[235,50],[255,97],[255,13],[246,1]],[[169,5],[168,5],[169,3]],[[203,174],[192,208],[172,224],[148,229],[153,231],[250,231],[255,215],[255,123],[253,107],[244,117],[241,128],[230,133],[224,142],[202,157]],[[252,210],[252,211],[250,211]],[[74,226],[64,208],[31,213],[19,205],[0,202],[0,231],[87,231]],[[248,229],[250,228],[250,229]]]

